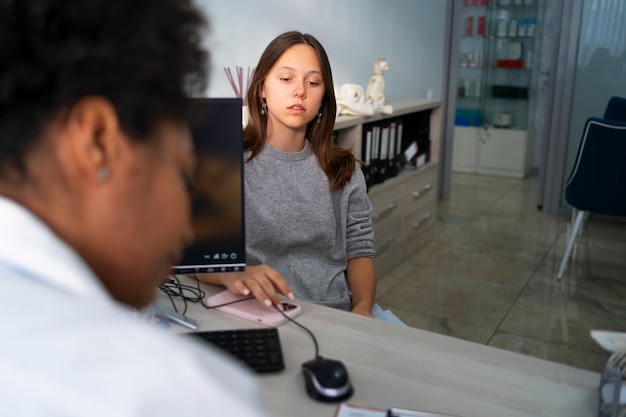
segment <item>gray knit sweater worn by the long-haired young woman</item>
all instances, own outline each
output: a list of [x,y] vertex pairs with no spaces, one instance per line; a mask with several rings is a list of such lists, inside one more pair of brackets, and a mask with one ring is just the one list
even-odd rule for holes
[[298,299],[351,310],[348,260],[375,254],[361,170],[330,192],[308,140],[296,153],[266,143],[244,166],[244,195],[247,264],[276,269]]

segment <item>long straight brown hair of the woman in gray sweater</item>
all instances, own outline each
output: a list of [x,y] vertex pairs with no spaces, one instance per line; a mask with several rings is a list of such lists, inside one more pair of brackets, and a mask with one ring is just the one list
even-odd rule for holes
[[265,77],[282,54],[297,44],[312,46],[317,52],[317,57],[322,67],[325,89],[320,107],[322,116],[319,123],[317,117],[309,122],[306,129],[306,138],[311,142],[313,153],[330,181],[331,190],[337,191],[350,181],[354,173],[356,159],[349,149],[333,144],[332,133],[337,112],[333,75],[326,51],[319,41],[309,34],[296,31],[285,32],[270,42],[261,55],[248,89],[247,100],[250,119],[243,135],[244,150],[250,151],[249,161],[258,155],[265,144],[267,117],[261,115],[261,107],[263,105],[261,90],[263,89],[263,83]]

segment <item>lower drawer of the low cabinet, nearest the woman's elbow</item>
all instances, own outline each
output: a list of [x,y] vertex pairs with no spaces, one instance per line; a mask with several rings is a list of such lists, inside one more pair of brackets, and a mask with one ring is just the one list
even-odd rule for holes
[[402,262],[401,224],[401,216],[394,216],[381,220],[374,226],[374,247],[376,248],[374,263],[378,278],[382,278]]

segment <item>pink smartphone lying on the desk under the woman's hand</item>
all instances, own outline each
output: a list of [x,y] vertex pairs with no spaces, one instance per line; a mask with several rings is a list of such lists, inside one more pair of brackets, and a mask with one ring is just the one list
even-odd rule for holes
[[[248,298],[247,300],[245,300]],[[266,326],[280,326],[288,319],[280,314],[279,311],[265,307],[256,298],[250,298],[249,295],[238,295],[229,290],[222,291],[206,299],[206,305],[209,307],[218,306],[232,301],[238,301],[222,307],[215,307],[216,310],[229,313],[237,317],[252,320],[255,323],[261,323]],[[290,318],[298,316],[302,312],[302,307],[291,301],[283,301],[283,312]]]

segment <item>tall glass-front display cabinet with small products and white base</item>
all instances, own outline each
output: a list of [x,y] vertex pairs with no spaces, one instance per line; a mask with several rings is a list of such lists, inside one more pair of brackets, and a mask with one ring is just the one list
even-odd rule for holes
[[530,170],[538,0],[462,5],[453,169],[524,177]]

